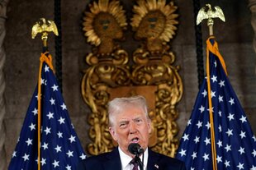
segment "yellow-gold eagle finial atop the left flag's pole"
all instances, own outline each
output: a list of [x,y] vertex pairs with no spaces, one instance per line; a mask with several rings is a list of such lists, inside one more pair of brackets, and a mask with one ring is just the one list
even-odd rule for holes
[[36,34],[42,33],[41,39],[44,42],[44,46],[46,46],[46,40],[48,39],[47,32],[54,32],[56,36],[58,36],[59,33],[54,21],[49,20],[46,23],[45,18],[40,18],[40,20],[42,21],[42,23],[39,21],[39,22],[36,22],[35,25],[33,25],[31,36],[32,36],[32,39],[35,39]]

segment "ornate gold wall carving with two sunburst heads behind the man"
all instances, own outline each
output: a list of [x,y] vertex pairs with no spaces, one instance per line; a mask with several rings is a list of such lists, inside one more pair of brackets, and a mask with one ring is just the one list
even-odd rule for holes
[[[116,144],[108,132],[107,102],[120,96],[142,94],[149,103],[154,131],[149,146],[174,156],[178,148],[177,103],[183,95],[183,82],[168,42],[178,21],[173,2],[141,0],[133,7],[130,25],[135,39],[142,43],[132,57],[116,44],[126,30],[126,15],[119,1],[99,0],[89,5],[83,18],[88,43],[94,45],[86,57],[90,67],[82,80],[84,101],[92,109],[88,116],[89,154],[111,150]],[[132,60],[132,61],[130,61]]]

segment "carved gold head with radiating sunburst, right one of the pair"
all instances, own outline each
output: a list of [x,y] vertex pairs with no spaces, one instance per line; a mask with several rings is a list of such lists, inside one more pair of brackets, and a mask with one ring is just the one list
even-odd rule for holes
[[166,4],[165,0],[139,0],[138,5],[133,7],[134,15],[130,23],[135,38],[146,39],[150,52],[162,51],[163,43],[173,39],[177,30],[176,10],[173,2]]

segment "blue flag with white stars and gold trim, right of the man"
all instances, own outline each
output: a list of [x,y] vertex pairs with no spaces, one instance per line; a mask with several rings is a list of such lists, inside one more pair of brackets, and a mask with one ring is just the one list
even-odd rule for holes
[[207,40],[207,57],[211,92],[206,76],[176,158],[186,163],[187,170],[256,170],[256,138],[213,37]]

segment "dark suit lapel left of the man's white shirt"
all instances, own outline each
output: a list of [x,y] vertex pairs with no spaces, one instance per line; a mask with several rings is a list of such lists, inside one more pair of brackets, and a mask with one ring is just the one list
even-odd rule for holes
[[107,161],[103,163],[103,166],[104,170],[121,170],[121,159],[117,148],[107,154]]

